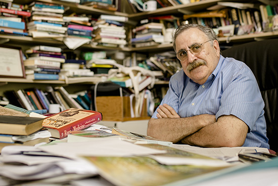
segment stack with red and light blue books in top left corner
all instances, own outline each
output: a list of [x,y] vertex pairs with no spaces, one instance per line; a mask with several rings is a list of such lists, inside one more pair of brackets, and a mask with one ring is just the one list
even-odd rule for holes
[[16,4],[3,3],[0,8],[0,32],[28,35],[25,30],[25,18],[29,17],[30,12],[22,10],[21,6],[14,6]]

